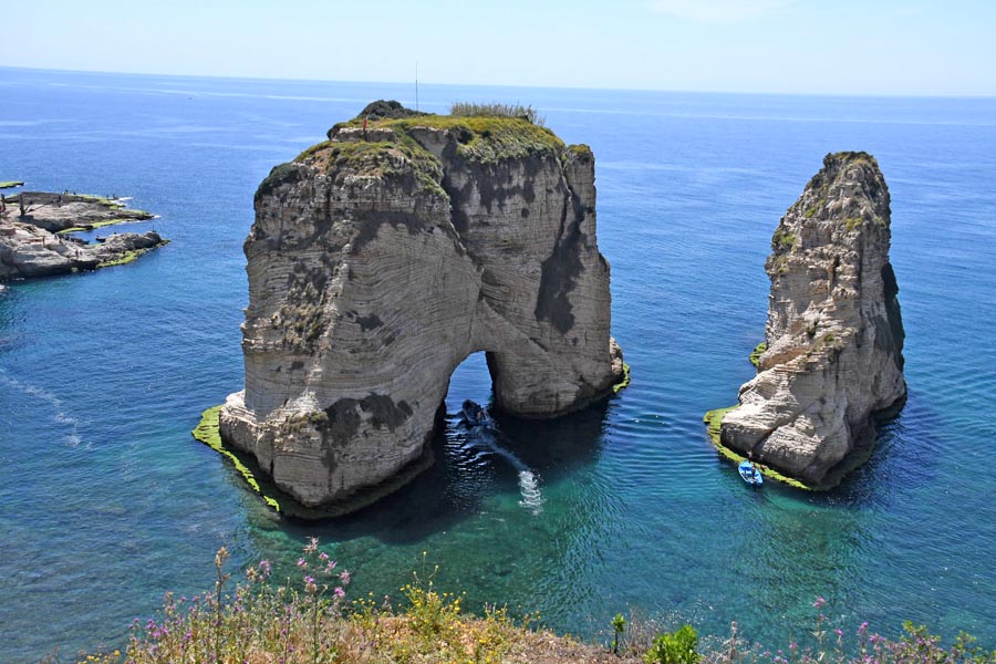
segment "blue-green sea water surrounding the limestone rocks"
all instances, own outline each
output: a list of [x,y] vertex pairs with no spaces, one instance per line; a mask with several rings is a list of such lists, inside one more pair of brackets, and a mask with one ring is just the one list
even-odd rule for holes
[[[241,386],[257,184],[366,102],[413,93],[0,69],[0,180],[131,196],[159,215],[135,229],[173,240],[0,294],[0,660],[118,643],[165,591],[208,588],[219,546],[288,564],[308,535],[353,592],[396,594],[426,551],[471,605],[589,637],[636,606],[784,645],[821,594],[849,631],[910,619],[996,646],[994,100],[425,85],[423,110],[530,103],[591,145],[632,386],[562,421],[505,421],[499,448],[450,429],[435,469],[334,523],[281,521],[194,442],[200,411]],[[874,154],[892,193],[909,403],[838,490],[751,492],[702,414],[753,374],[769,238],[839,149]],[[489,393],[471,356],[450,409]]]

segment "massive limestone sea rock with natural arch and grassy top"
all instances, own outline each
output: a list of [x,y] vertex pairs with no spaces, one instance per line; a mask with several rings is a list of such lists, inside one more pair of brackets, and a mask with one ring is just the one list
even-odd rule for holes
[[527,417],[622,370],[591,151],[522,118],[393,115],[336,125],[257,191],[246,387],[221,433],[305,506],[424,466],[470,353]]

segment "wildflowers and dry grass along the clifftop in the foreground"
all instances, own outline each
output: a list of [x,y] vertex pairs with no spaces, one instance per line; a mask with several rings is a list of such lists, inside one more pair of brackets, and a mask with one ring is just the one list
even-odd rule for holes
[[[484,615],[463,612],[463,598],[435,587],[437,568],[422,570],[401,589],[404,601],[387,596],[346,599],[349,571],[339,568],[311,539],[297,563],[298,578],[276,582],[269,561],[245,571],[234,583],[228,552],[215,556],[215,585],[203,595],[169,593],[157,619],[135,619],[124,652],[81,655],[101,664],[365,664],[499,663],[536,664],[996,664],[965,634],[942,645],[926,627],[904,625],[899,639],[871,633],[868,623],[844,632],[827,624],[822,598],[813,602],[815,629],[808,643],[766,650],[744,642],[733,623],[725,640],[701,647],[691,625],[663,632],[652,621],[615,615],[604,644],[584,644],[533,629],[538,616],[512,620],[505,608]],[[53,655],[48,662],[61,661]]]

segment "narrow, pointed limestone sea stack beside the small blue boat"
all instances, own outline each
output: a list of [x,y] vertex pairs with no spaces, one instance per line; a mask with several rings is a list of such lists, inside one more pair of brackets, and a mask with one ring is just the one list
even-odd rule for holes
[[771,239],[767,350],[723,445],[813,486],[869,448],[873,415],[898,408],[903,324],[889,263],[889,190],[864,153],[827,155]]

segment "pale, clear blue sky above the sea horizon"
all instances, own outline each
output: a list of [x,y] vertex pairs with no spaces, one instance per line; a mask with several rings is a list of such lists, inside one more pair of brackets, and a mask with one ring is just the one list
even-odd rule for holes
[[[996,95],[992,0],[23,0],[0,65],[676,91]],[[0,73],[2,75],[2,73]]]

